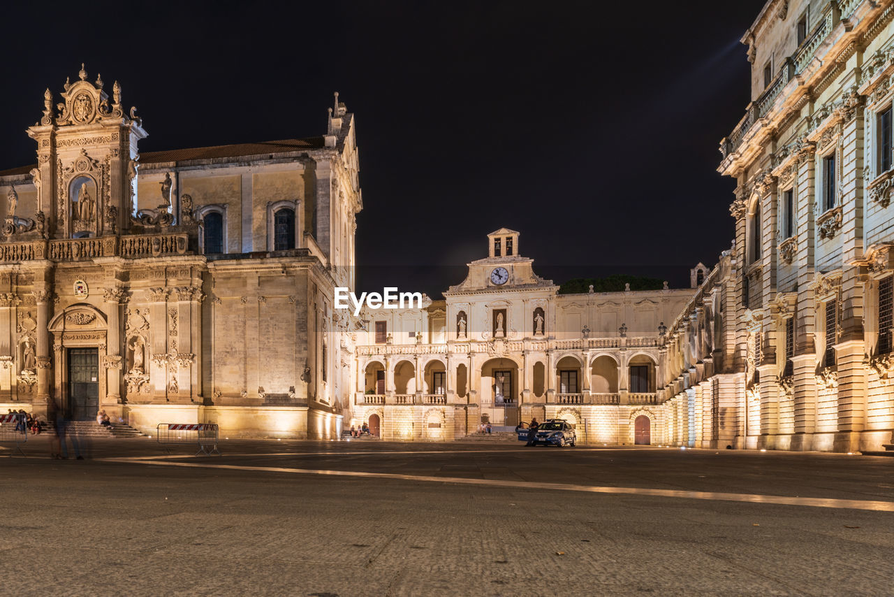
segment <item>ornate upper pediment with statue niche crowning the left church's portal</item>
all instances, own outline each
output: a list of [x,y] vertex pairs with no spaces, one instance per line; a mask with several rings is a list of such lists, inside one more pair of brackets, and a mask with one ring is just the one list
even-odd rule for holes
[[38,167],[31,171],[38,191],[38,219],[49,238],[118,235],[131,226],[137,143],[147,136],[131,107],[124,114],[121,86],[112,85],[111,104],[102,77],[65,81],[63,101],[53,107],[44,92],[44,113],[28,129],[38,143]]

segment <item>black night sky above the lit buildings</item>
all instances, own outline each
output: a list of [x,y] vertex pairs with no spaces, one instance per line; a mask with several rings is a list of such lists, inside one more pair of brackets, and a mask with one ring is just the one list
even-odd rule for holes
[[762,5],[114,3],[80,21],[16,3],[4,21],[32,25],[4,30],[0,168],[34,161],[24,129],[81,62],[121,82],[143,151],[320,135],[338,90],[357,117],[361,289],[438,294],[500,226],[557,283],[685,286],[730,245],[717,147],[745,113],[738,39]]

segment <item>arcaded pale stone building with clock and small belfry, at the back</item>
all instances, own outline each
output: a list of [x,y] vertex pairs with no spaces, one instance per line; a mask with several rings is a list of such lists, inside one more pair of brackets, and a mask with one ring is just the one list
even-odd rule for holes
[[351,424],[443,440],[561,417],[582,442],[670,442],[664,322],[694,291],[558,294],[519,254],[518,232],[487,246],[443,301],[363,311]]

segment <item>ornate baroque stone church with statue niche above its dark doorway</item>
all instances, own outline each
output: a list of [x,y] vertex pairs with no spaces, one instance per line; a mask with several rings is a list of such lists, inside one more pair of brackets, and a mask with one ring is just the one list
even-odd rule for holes
[[37,164],[0,173],[0,408],[337,436],[353,115],[336,97],[320,137],[140,154],[117,81],[81,68],[62,99],[28,129]]

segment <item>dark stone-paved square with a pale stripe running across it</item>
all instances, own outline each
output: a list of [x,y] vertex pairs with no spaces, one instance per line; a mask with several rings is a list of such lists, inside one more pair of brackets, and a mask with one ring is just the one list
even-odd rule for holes
[[[894,458],[224,441],[0,456],[3,593],[891,594]],[[185,449],[182,450],[185,452]],[[2,454],[3,452],[0,452]]]

